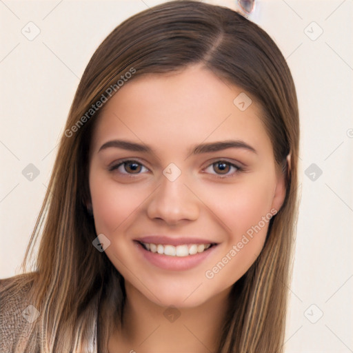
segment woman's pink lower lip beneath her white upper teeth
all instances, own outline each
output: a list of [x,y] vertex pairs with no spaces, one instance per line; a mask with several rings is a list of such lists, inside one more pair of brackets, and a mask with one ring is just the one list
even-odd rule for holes
[[152,263],[152,265],[155,265],[158,268],[163,268],[163,270],[170,271],[185,271],[196,267],[208,256],[210,256],[210,254],[212,254],[217,247],[217,245],[213,245],[211,248],[208,248],[208,250],[198,252],[194,255],[168,256],[159,254],[158,252],[150,252],[145,250],[143,245],[141,245],[141,243],[138,241],[134,241],[134,243],[136,244],[137,249],[143,255],[143,257]]

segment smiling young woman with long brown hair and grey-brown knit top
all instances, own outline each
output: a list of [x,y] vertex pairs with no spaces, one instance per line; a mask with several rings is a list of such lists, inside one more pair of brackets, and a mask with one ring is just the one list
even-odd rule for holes
[[299,113],[279,48],[228,8],[134,15],[83,74],[4,352],[282,352]]

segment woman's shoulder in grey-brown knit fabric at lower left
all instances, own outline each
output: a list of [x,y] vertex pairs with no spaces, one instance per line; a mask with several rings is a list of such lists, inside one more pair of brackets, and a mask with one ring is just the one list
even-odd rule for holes
[[32,272],[0,279],[0,352],[12,352],[31,332],[34,316],[38,316],[29,299],[35,277]]

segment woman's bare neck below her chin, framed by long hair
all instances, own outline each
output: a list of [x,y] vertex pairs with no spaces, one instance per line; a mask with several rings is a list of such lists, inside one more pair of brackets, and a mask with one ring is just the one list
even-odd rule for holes
[[230,289],[197,307],[161,307],[129,283],[123,327],[110,335],[110,353],[216,352]]

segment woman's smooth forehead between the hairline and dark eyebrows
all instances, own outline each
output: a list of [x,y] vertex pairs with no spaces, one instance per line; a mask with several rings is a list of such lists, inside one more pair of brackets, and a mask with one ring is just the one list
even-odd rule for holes
[[246,139],[272,152],[261,114],[249,94],[201,65],[142,75],[125,83],[106,103],[94,129],[92,150],[118,138],[174,151],[203,141]]

